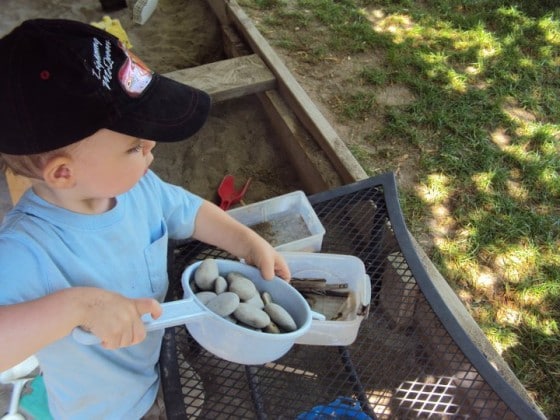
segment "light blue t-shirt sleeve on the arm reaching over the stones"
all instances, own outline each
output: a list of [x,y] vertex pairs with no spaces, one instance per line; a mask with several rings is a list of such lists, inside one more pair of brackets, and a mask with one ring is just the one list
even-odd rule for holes
[[204,200],[182,187],[162,181],[151,171],[148,176],[160,196],[169,238],[190,238],[194,233],[196,215]]

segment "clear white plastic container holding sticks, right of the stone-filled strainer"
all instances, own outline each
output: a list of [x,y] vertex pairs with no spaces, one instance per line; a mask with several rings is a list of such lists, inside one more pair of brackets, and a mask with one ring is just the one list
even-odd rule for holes
[[[283,252],[292,277],[324,278],[329,283],[348,283],[356,293],[357,311],[344,321],[313,319],[309,330],[296,339],[297,344],[346,346],[356,340],[362,320],[367,317],[371,300],[371,283],[364,263],[352,255]],[[316,312],[315,308],[312,309]]]

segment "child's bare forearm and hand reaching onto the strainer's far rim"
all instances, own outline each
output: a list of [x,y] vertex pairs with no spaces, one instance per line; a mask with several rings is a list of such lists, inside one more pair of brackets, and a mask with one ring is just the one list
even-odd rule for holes
[[193,237],[244,258],[248,264],[258,267],[265,279],[271,279],[274,274],[290,279],[286,261],[266,240],[208,201],[196,216]]

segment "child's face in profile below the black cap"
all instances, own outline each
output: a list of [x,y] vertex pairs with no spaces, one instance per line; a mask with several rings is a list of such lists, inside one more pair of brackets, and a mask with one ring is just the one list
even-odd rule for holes
[[83,198],[112,198],[130,190],[154,160],[156,142],[101,129],[72,152]]

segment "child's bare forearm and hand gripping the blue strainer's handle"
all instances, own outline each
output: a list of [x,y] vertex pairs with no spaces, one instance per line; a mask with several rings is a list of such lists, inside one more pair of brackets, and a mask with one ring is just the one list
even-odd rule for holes
[[154,299],[128,299],[93,287],[72,287],[0,306],[0,371],[67,336],[75,327],[100,337],[107,349],[139,343],[146,337],[140,318],[145,313],[157,318],[161,306]]

